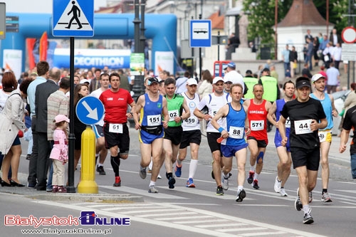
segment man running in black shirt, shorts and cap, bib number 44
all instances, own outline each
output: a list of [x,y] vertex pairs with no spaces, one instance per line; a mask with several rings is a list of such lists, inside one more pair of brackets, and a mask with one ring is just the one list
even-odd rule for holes
[[[299,188],[295,209],[303,209],[303,223],[313,223],[310,215],[308,192],[313,191],[318,176],[320,162],[320,142],[318,130],[328,125],[323,106],[320,101],[310,98],[310,80],[300,77],[295,80],[297,99],[286,102],[281,117],[278,121],[278,129],[281,133],[282,144],[286,146],[286,120],[290,120],[290,154],[293,168],[298,174]],[[320,123],[318,121],[320,120]]]

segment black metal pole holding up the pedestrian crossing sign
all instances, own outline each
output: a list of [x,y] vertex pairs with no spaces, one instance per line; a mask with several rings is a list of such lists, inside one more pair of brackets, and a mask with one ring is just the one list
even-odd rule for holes
[[70,97],[69,97],[69,136],[68,136],[68,193],[75,193],[74,186],[74,37],[70,37],[70,56],[69,56],[69,77],[70,77]]

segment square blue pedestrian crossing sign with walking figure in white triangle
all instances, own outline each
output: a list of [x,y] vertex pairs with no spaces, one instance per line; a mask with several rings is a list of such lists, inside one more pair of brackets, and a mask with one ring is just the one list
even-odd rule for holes
[[94,36],[94,0],[53,0],[52,35]]

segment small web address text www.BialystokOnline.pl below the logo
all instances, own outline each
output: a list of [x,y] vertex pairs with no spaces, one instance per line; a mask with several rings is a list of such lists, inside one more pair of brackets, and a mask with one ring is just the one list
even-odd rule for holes
[[52,234],[56,234],[56,235],[61,235],[61,234],[66,234],[66,233],[98,233],[98,234],[103,234],[103,235],[107,235],[112,233],[111,229],[105,229],[105,230],[101,230],[101,229],[93,229],[93,228],[71,228],[71,229],[59,229],[59,228],[34,228],[34,229],[24,229],[21,230],[21,233],[52,233]]

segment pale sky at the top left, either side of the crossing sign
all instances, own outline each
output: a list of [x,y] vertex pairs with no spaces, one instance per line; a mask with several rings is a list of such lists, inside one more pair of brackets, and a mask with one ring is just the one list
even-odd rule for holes
[[[0,0],[0,2],[4,2],[6,4],[6,12],[41,14],[52,13],[53,1],[59,0]],[[99,9],[100,6],[106,6],[106,0],[94,0],[94,10]]]

